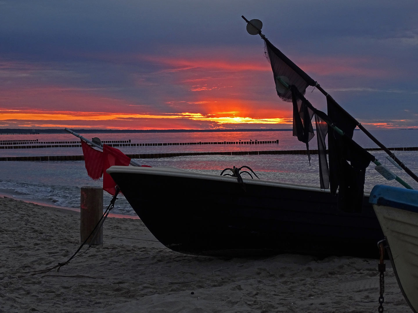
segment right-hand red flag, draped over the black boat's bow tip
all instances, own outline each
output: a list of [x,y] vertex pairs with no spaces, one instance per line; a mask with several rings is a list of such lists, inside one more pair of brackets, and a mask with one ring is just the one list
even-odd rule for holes
[[112,148],[107,144],[103,145],[103,190],[109,192],[112,196],[115,195],[116,183],[106,173],[106,170],[113,165],[128,166],[130,157],[122,153],[122,151]]

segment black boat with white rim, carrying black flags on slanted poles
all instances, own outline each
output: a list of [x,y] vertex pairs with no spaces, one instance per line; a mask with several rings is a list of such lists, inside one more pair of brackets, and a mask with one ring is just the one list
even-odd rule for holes
[[[106,172],[153,235],[178,252],[378,257],[376,242],[383,233],[369,194],[364,193],[365,170],[373,162],[386,179],[411,187],[352,140],[354,129],[361,129],[417,182],[418,177],[270,43],[261,33],[260,20],[244,19],[248,33],[264,41],[275,89],[283,101],[292,103],[293,136],[306,144],[309,162],[315,117],[319,187],[247,179],[235,167],[220,175],[169,167],[113,166]],[[328,114],[303,96],[308,86],[324,94]],[[327,133],[332,133],[328,148]]]

